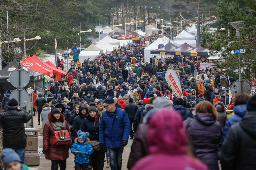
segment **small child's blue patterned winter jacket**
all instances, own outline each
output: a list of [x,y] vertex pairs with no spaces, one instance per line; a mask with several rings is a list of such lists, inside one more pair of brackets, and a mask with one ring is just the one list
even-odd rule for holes
[[77,163],[89,163],[90,157],[93,153],[93,148],[90,143],[85,144],[85,143],[77,143],[77,139],[73,143],[71,147],[71,153],[75,154],[75,160],[74,162]]

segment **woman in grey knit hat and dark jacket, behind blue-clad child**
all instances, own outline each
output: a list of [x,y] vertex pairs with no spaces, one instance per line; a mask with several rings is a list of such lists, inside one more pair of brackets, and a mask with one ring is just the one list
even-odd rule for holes
[[[98,113],[96,106],[94,103],[90,104],[90,108],[88,113],[86,113],[86,118],[82,122],[81,130],[89,132],[89,139],[91,142],[99,141],[99,126],[100,126],[100,114]],[[91,143],[92,144],[92,143]],[[93,154],[90,156],[92,159],[92,167],[93,170],[103,170],[104,167],[104,156],[106,149],[95,150],[95,146]]]

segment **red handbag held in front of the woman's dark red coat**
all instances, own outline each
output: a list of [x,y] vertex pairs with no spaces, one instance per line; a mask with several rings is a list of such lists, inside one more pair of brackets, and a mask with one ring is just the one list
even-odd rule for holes
[[65,145],[71,141],[69,131],[67,130],[56,130],[53,132],[53,144],[54,145]]

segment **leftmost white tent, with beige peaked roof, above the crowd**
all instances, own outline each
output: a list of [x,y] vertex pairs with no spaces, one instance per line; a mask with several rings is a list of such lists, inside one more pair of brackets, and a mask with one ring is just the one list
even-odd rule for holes
[[99,56],[101,53],[103,53],[103,49],[98,48],[95,45],[90,45],[88,48],[82,50],[79,53],[79,60],[84,61],[85,59],[89,58],[90,61],[92,61],[94,58]]

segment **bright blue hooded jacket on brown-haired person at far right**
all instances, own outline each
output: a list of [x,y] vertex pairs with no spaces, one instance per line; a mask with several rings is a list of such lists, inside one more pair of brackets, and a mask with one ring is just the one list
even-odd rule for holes
[[237,122],[241,121],[247,112],[246,105],[237,105],[234,106],[234,115],[230,116],[228,120],[226,121],[226,124],[223,129],[223,135],[222,135],[222,143],[224,142],[226,135],[228,134],[229,128],[236,124]]

